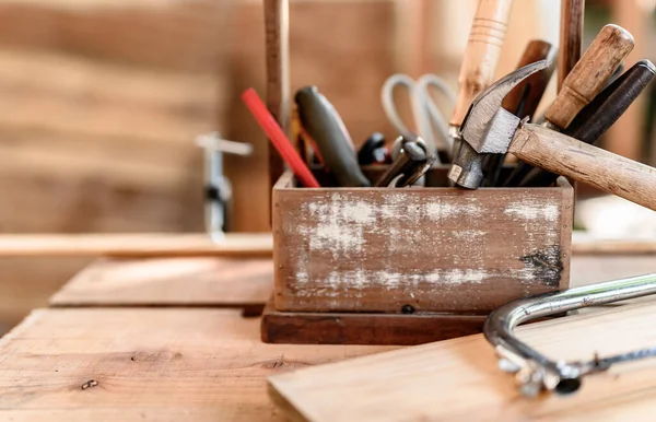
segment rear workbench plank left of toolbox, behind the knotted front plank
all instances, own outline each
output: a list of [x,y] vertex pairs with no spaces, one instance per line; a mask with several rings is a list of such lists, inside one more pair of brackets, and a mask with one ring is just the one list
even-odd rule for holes
[[51,298],[54,306],[263,307],[273,290],[270,258],[102,259]]

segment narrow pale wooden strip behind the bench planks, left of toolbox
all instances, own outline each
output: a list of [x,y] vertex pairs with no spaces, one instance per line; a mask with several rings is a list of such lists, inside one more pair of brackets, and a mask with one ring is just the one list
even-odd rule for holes
[[0,256],[271,256],[268,233],[227,233],[221,243],[206,234],[70,234],[0,236]]

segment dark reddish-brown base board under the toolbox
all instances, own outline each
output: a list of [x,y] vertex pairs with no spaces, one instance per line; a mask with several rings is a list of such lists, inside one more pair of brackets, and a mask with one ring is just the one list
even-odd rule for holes
[[288,313],[269,303],[266,343],[413,345],[481,332],[485,316],[448,314]]

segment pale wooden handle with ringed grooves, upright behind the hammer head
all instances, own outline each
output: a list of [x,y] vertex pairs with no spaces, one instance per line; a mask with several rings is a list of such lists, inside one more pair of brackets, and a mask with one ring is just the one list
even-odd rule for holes
[[513,0],[480,0],[458,77],[458,99],[449,120],[460,127],[469,105],[494,81]]

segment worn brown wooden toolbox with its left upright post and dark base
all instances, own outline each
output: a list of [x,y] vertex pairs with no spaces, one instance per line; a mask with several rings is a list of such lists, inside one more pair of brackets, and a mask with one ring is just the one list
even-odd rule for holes
[[[267,106],[289,132],[286,1],[266,0],[265,17]],[[573,189],[563,178],[550,188],[465,190],[433,168],[427,188],[305,189],[274,150],[270,164],[266,342],[442,340],[479,332],[508,301],[569,286]]]

